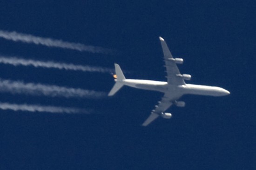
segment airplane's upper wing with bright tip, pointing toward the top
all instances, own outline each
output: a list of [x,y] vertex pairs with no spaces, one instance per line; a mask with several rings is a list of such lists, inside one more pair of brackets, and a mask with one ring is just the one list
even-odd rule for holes
[[166,67],[166,72],[167,72],[167,82],[170,85],[185,85],[184,79],[180,76],[180,71],[175,63],[173,59],[173,56],[166,44],[166,42],[164,41],[164,39],[162,37],[159,37],[160,41],[161,41],[161,45],[162,45],[162,51],[163,51],[163,55],[164,55],[164,61],[165,61],[165,67]]

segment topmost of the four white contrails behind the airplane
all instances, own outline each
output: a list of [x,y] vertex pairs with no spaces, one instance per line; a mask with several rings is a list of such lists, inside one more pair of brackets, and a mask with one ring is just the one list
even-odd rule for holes
[[77,50],[81,52],[113,53],[113,50],[102,48],[99,46],[86,46],[81,43],[71,43],[71,42],[66,42],[59,39],[36,37],[30,34],[8,32],[3,30],[0,30],[0,38],[12,40],[15,42],[20,41],[28,44],[65,48],[65,49]]

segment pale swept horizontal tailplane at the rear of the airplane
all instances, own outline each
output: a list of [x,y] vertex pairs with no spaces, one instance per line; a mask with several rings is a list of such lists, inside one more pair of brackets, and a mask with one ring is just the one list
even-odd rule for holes
[[111,89],[111,91],[108,93],[108,96],[113,96],[117,91],[121,89],[123,84],[121,83],[122,80],[125,79],[123,72],[118,64],[115,64],[115,74],[116,74],[116,83]]

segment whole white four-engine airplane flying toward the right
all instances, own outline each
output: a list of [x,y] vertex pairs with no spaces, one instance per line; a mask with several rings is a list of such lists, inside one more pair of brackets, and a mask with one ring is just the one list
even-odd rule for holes
[[181,74],[176,64],[182,64],[183,59],[173,58],[168,46],[162,37],[159,37],[162,45],[162,51],[164,55],[164,62],[167,72],[167,82],[153,81],[153,80],[140,80],[140,79],[126,79],[118,64],[115,64],[115,85],[108,93],[108,96],[113,96],[117,91],[121,89],[123,85],[130,87],[158,91],[164,93],[161,101],[158,105],[155,105],[155,109],[151,111],[150,116],[142,124],[147,126],[156,118],[161,116],[162,118],[171,118],[172,114],[165,112],[170,106],[176,105],[178,107],[184,107],[185,102],[178,101],[185,94],[203,95],[203,96],[226,96],[230,92],[216,86],[208,85],[192,85],[186,84],[184,80],[190,80],[191,75]]

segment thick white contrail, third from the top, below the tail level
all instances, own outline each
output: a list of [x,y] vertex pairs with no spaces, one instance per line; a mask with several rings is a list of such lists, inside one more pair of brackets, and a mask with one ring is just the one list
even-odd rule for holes
[[24,83],[22,81],[4,80],[0,78],[0,92],[26,94],[33,96],[65,97],[65,98],[102,98],[104,92],[61,87],[57,85],[42,85]]

